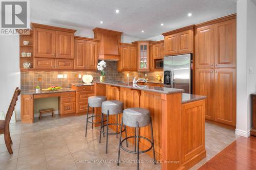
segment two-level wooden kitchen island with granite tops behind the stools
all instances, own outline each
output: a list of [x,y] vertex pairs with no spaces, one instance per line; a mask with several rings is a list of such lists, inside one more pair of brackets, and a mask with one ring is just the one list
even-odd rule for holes
[[[141,107],[150,110],[153,120],[156,159],[162,169],[188,169],[206,157],[204,138],[205,96],[183,94],[184,90],[134,85],[122,82],[96,82],[95,95],[123,102],[124,109]],[[100,108],[96,109],[100,114]],[[118,122],[121,114],[118,116]],[[96,119],[95,121],[99,121]],[[116,116],[110,117],[115,123]],[[113,130],[115,127],[112,126]],[[134,135],[127,127],[127,135]],[[149,127],[140,128],[140,135],[151,138]],[[130,142],[134,143],[131,139]],[[140,139],[140,149],[150,143]],[[152,151],[147,152],[153,156]]]

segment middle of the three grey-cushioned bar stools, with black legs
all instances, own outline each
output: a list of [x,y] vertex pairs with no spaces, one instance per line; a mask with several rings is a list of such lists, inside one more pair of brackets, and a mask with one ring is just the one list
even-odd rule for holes
[[[104,101],[102,102],[101,106],[101,123],[100,123],[100,135],[99,135],[99,142],[101,140],[101,133],[106,135],[106,154],[108,153],[108,136],[109,135],[117,135],[121,132],[125,131],[125,137],[127,137],[126,134],[126,127],[124,126],[124,130],[122,131],[122,128],[120,132],[117,131],[117,126],[121,126],[121,124],[118,124],[118,114],[121,114],[123,112],[123,103],[121,101]],[[102,126],[103,123],[103,114],[106,115],[106,125]],[[116,115],[116,123],[109,124],[109,115]],[[109,125],[116,125],[116,132],[109,132]],[[104,132],[104,127],[106,126],[106,132]],[[103,128],[103,131],[102,131]],[[126,146],[128,147],[128,142],[126,141]]]

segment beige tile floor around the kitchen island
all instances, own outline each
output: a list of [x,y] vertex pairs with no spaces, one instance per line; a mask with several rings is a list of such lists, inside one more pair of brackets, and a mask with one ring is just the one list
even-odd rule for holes
[[[9,155],[4,135],[0,135],[0,169],[136,169],[136,163],[116,165],[118,140],[115,135],[109,138],[109,153],[105,154],[105,140],[98,142],[98,128],[91,129],[84,137],[86,115],[60,118],[44,116],[34,124],[16,123],[10,125],[13,140],[13,154]],[[234,131],[216,125],[205,124],[205,147],[207,157],[191,169],[197,169],[212,156],[223,150],[238,136]],[[132,144],[129,148],[133,148]],[[135,161],[136,155],[121,152],[123,161]],[[152,160],[146,154],[140,160]],[[89,161],[89,162],[88,162]],[[141,163],[140,169],[161,169],[159,163]]]

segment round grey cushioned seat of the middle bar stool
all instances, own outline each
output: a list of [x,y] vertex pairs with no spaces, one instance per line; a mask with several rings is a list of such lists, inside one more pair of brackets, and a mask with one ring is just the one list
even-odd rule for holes
[[103,114],[108,114],[108,111],[109,111],[109,115],[122,113],[123,112],[123,103],[120,101],[102,102],[101,112]]

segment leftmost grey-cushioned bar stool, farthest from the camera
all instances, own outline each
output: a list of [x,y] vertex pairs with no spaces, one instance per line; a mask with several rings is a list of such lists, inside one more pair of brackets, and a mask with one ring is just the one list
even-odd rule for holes
[[[86,119],[86,136],[87,136],[88,123],[92,124],[92,129],[93,129],[93,124],[101,123],[101,121],[100,122],[93,122],[94,117],[100,116],[100,115],[94,115],[94,108],[95,107],[101,107],[101,103],[104,102],[104,101],[106,101],[106,96],[103,96],[103,95],[94,95],[94,96],[90,96],[88,98],[87,119]],[[93,114],[92,114],[92,116],[89,117],[89,108],[90,107],[93,108]],[[89,118],[92,118],[92,122],[88,120]]]

